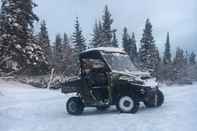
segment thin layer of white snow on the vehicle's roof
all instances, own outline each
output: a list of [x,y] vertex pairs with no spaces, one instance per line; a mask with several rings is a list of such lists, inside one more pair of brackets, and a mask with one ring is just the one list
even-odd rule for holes
[[125,53],[123,48],[116,48],[116,47],[98,47],[98,48],[91,48],[88,50],[85,50],[84,52],[89,52],[89,51],[104,51],[104,52],[116,52],[116,53]]

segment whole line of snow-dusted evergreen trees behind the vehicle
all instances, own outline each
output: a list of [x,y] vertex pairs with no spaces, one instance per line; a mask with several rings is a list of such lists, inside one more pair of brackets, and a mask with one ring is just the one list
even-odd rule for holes
[[159,52],[149,19],[145,22],[139,47],[135,33],[130,34],[127,27],[119,42],[117,30],[112,28],[114,20],[108,6],[105,6],[101,19],[95,22],[90,42],[83,35],[78,17],[72,36],[57,34],[55,41],[51,42],[45,20],[40,22],[40,31],[34,31],[34,22],[39,21],[33,12],[36,6],[32,0],[2,0],[0,72],[41,75],[54,68],[56,73],[70,76],[79,71],[80,52],[96,47],[123,47],[133,63],[141,70],[151,71],[160,81],[197,79],[196,54],[178,47],[173,57],[169,33],[164,42],[164,53]]

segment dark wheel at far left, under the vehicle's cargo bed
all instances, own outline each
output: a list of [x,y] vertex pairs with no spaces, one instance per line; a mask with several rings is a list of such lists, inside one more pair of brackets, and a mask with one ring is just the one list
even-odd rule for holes
[[67,101],[66,109],[69,114],[80,115],[83,112],[84,105],[79,97],[71,97]]

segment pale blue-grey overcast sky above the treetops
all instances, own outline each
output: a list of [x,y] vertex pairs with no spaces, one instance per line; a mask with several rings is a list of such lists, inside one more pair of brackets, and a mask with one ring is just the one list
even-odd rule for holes
[[[197,0],[34,0],[41,19],[47,21],[51,40],[55,34],[73,32],[75,17],[79,17],[86,39],[91,38],[96,19],[109,6],[114,19],[113,28],[119,38],[124,26],[135,32],[137,42],[142,36],[146,18],[150,18],[153,34],[160,49],[170,32],[173,50],[177,46],[197,53]],[[121,39],[119,39],[121,42]]]

